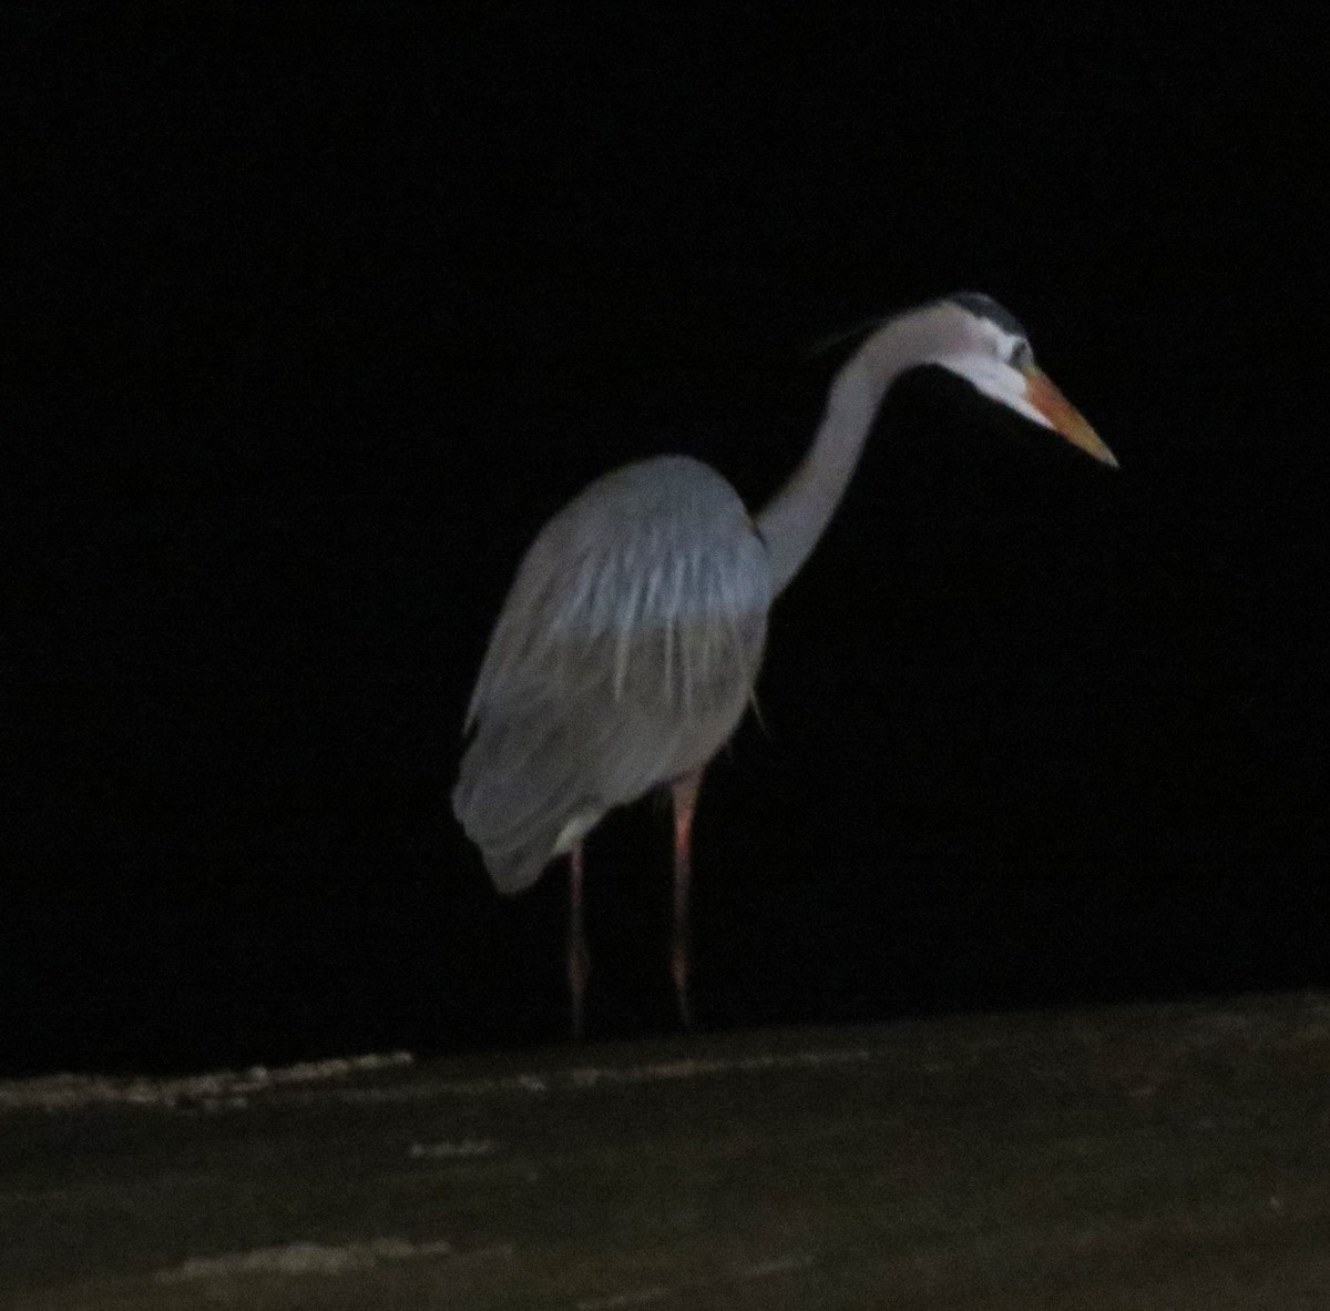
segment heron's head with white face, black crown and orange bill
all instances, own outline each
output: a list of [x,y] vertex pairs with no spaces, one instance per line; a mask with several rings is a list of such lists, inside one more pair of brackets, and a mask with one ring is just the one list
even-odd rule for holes
[[959,374],[983,395],[1033,423],[1052,429],[1087,455],[1117,467],[1099,434],[1036,366],[1025,330],[992,297],[959,291],[934,302],[930,310],[940,318],[946,339],[932,363]]

